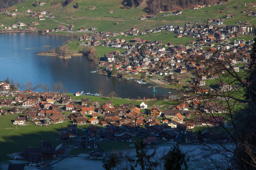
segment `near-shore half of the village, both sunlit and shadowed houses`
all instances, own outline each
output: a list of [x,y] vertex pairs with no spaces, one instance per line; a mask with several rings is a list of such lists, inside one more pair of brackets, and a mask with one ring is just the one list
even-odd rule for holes
[[[108,101],[90,101],[79,92],[67,95],[57,92],[19,91],[8,83],[1,82],[1,117],[15,114],[12,123],[17,126],[48,126],[69,122],[67,127],[59,129],[59,146],[54,148],[51,141],[42,141],[40,147],[24,148],[17,151],[14,159],[27,160],[28,165],[47,167],[52,158],[66,158],[70,150],[88,148],[90,159],[105,158],[104,150],[98,142],[130,142],[143,137],[144,143],[150,148],[158,142],[177,142],[198,145],[201,142],[230,142],[226,134],[213,136],[205,130],[200,136],[193,133],[199,126],[220,126],[226,122],[223,116],[226,107],[218,102],[202,102],[200,99],[187,100],[185,103],[176,100],[177,105],[148,105],[143,99],[139,105],[113,104]],[[77,100],[74,97],[80,97]],[[204,104],[203,104],[204,103]],[[197,113],[216,113],[216,116],[205,116]],[[85,125],[82,131],[79,126]],[[70,146],[72,142],[72,147]],[[39,144],[38,144],[39,145]]]

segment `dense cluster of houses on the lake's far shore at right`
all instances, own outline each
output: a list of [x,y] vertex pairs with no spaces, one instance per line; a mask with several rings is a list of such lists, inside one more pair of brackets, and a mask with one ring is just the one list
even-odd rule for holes
[[[217,22],[218,20],[216,20]],[[209,19],[209,22],[212,22]],[[149,32],[173,31],[177,37],[193,37],[187,45],[168,42],[163,44],[160,40],[143,40],[135,37],[133,41],[115,38],[110,40],[109,37],[118,35],[141,35]],[[205,69],[209,66],[212,58],[226,59],[237,72],[240,70],[236,66],[237,62],[247,63],[250,59],[250,48],[253,39],[245,41],[236,39],[234,42],[226,42],[226,39],[233,39],[236,35],[247,35],[253,33],[252,25],[192,25],[188,23],[184,26],[166,25],[155,29],[146,29],[142,31],[137,27],[126,30],[125,32],[97,32],[93,36],[80,37],[80,45],[88,44],[93,46],[109,46],[112,48],[126,49],[125,53],[115,50],[105,54],[104,59],[98,63],[98,66],[104,67],[106,71],[112,71],[115,65],[118,74],[146,74],[168,76],[167,79],[177,81],[177,75],[191,72],[196,75],[191,84],[199,86],[197,92],[207,91],[205,80],[217,78],[214,70]],[[216,45],[218,43],[218,45]],[[213,56],[216,52],[224,53],[224,56]],[[226,63],[228,65],[228,63]],[[247,65],[245,66],[247,69]],[[216,84],[217,85],[217,84]],[[203,89],[202,89],[203,88]]]

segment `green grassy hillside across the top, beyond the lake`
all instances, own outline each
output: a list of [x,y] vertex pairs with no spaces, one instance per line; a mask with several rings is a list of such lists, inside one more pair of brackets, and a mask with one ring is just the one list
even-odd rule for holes
[[[49,0],[42,6],[35,6],[34,0],[27,0],[24,3],[8,8],[10,12],[16,10],[15,16],[0,15],[0,20],[1,23],[6,26],[13,25],[17,21],[23,22],[26,25],[32,25],[31,22],[39,22],[39,25],[36,25],[36,29],[55,29],[57,25],[60,24],[59,22],[62,22],[67,26],[74,24],[74,31],[79,31],[81,27],[90,28],[94,26],[98,28],[97,31],[105,32],[125,31],[125,29],[130,29],[131,27],[146,29],[166,24],[183,25],[188,22],[199,22],[203,24],[207,22],[209,18],[223,18],[224,24],[237,24],[239,20],[241,22],[248,20],[249,24],[256,24],[254,16],[249,16],[251,12],[242,12],[243,10],[255,11],[253,6],[243,6],[245,3],[249,2],[255,3],[256,0],[232,0],[222,5],[213,5],[195,10],[183,10],[181,15],[171,15],[171,12],[174,11],[163,11],[163,13],[158,13],[156,18],[140,20],[142,15],[147,15],[144,11],[144,7],[133,6],[129,9],[123,8],[121,0],[76,0],[64,7],[61,5],[61,1],[56,0]],[[79,4],[79,8],[75,8],[76,3]],[[143,1],[142,4],[145,4],[145,1]],[[31,13],[26,12],[28,9],[32,12],[52,12],[50,15],[55,16],[55,21],[49,19],[47,16],[45,20],[39,20],[38,17],[32,18],[30,17]],[[113,10],[113,12],[110,12],[110,10]],[[167,15],[163,16],[164,13]],[[226,14],[232,14],[233,18],[226,18]],[[0,29],[4,28],[0,27]]]

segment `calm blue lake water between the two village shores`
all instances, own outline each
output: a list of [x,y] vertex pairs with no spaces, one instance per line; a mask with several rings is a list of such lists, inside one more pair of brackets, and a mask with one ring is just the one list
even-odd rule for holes
[[[156,87],[153,94],[152,84],[138,84],[134,80],[113,78],[90,73],[94,67],[86,57],[61,59],[58,57],[37,56],[36,53],[57,48],[71,39],[64,36],[46,36],[37,33],[1,33],[0,34],[0,80],[7,77],[14,82],[36,84],[43,82],[52,87],[52,83],[62,82],[68,92],[84,91],[108,95],[114,91],[118,97],[139,99],[179,94],[180,91]],[[50,45],[46,47],[45,45]],[[37,91],[37,90],[36,90]]]

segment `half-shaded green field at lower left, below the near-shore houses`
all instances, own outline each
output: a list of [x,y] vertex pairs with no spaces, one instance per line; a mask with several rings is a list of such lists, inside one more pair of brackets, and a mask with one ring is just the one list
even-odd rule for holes
[[56,147],[60,145],[59,130],[67,127],[69,122],[56,124],[51,126],[35,126],[34,124],[27,126],[16,126],[12,124],[12,120],[19,115],[0,116],[0,160],[10,159],[6,154],[22,151],[26,147],[38,147],[41,141],[51,141]]

